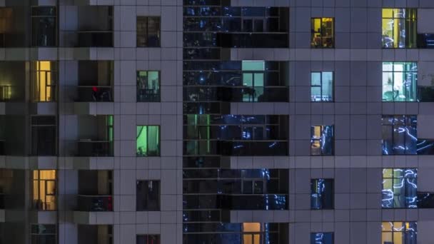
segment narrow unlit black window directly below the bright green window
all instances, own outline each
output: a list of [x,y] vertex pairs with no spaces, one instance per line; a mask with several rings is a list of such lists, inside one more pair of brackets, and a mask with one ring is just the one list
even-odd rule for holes
[[137,181],[136,210],[160,210],[160,181]]

